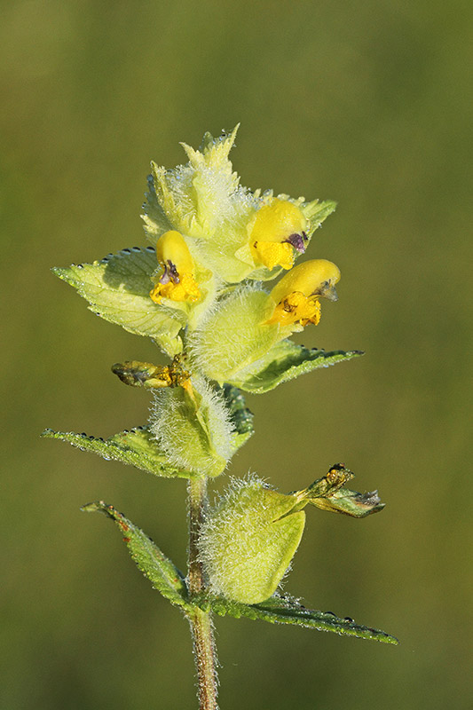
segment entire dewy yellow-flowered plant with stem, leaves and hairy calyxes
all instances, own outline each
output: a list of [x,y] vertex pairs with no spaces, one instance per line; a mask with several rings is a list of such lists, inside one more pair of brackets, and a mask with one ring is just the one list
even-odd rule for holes
[[207,133],[199,150],[183,144],[188,162],[173,170],[152,163],[143,215],[149,246],[53,269],[91,311],[150,337],[169,359],[165,366],[130,360],[112,367],[122,383],[151,390],[149,422],[105,440],[43,432],[157,477],[188,479],[186,573],[113,505],[97,501],[83,510],[114,520],[138,568],[189,620],[201,710],[217,707],[213,613],[397,643],[279,591],[308,506],[351,517],[383,508],[376,492],[346,486],[351,470],[336,463],[292,493],[256,475],[233,478],[216,502],[208,500],[209,478],[225,473],[253,433],[243,392],[263,394],[362,354],[308,350],[290,340],[319,323],[324,299],[337,298],[335,264],[317,258],[296,265],[335,203],[241,186],[229,160],[236,130],[220,138]]

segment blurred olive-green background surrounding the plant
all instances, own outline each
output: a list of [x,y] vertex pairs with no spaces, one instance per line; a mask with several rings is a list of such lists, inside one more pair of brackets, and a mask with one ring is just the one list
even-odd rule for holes
[[309,511],[286,590],[401,645],[217,619],[220,704],[469,708],[473,5],[17,0],[2,17],[0,706],[196,706],[185,621],[79,511],[114,503],[184,566],[185,484],[38,438],[144,423],[149,397],[110,365],[155,349],[49,268],[145,243],[149,161],[241,122],[244,185],[339,202],[311,256],[340,266],[340,301],[299,342],[367,354],[248,397],[232,472],[288,491],[345,461],[380,489],[379,516]]

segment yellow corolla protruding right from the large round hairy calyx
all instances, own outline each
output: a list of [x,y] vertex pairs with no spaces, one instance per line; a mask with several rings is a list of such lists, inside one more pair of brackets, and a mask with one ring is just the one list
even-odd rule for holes
[[317,325],[320,320],[320,298],[336,301],[335,284],[340,270],[331,261],[313,259],[291,269],[272,289],[275,304],[268,323],[290,326],[293,323]]

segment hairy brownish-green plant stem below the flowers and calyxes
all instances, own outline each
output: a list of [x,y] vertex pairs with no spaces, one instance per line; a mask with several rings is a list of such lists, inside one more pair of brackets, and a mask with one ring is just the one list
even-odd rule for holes
[[[199,562],[197,540],[201,520],[207,505],[207,479],[189,481],[189,594],[200,594],[205,589],[202,565]],[[217,710],[217,671],[215,642],[210,612],[194,607],[187,617],[193,635],[193,653],[197,669],[200,710]]]

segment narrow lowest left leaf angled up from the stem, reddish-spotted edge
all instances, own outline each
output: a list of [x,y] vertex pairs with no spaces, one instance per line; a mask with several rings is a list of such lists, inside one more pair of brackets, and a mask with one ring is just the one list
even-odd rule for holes
[[187,599],[184,575],[142,530],[114,509],[113,505],[108,505],[104,501],[88,503],[81,510],[86,513],[99,511],[111,517],[122,531],[123,542],[126,543],[133,561],[150,580],[154,589],[161,592],[162,596],[169,599],[172,604],[185,609],[192,608]]

